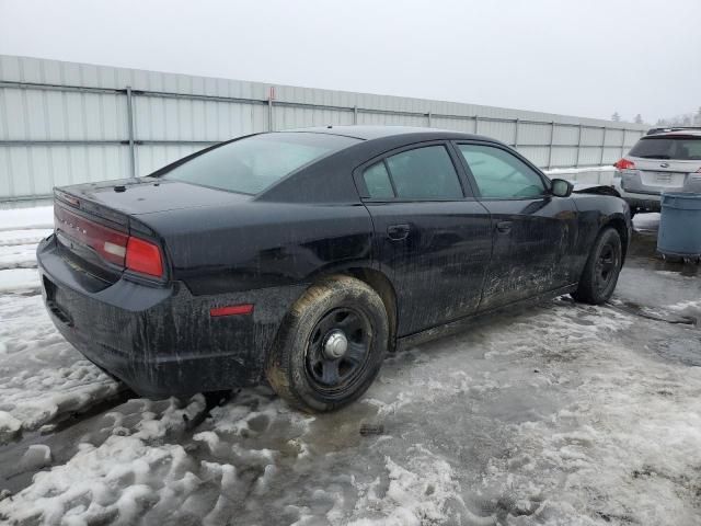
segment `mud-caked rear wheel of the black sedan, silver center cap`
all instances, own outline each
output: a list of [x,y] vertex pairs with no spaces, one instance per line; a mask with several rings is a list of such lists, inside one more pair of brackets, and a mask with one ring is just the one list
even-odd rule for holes
[[389,334],[384,304],[372,288],[349,276],[330,277],[292,306],[267,356],[265,375],[290,405],[334,411],[370,387]]

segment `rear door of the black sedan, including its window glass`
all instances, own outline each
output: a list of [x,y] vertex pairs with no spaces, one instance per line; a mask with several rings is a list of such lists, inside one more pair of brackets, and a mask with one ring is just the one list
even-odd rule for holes
[[492,252],[492,224],[446,141],[394,150],[356,170],[380,268],[398,302],[398,335],[474,312]]

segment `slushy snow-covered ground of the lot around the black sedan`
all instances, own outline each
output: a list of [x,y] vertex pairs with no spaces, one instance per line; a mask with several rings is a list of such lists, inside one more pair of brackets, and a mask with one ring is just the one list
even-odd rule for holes
[[701,524],[701,279],[657,215],[609,305],[483,320],[322,416],[122,389],[48,320],[30,216],[0,221],[0,523]]

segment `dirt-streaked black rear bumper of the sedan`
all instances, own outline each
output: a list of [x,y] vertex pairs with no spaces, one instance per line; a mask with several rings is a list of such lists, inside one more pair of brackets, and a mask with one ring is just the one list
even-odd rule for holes
[[[125,277],[97,291],[53,237],[37,248],[44,300],[60,333],[88,359],[141,396],[185,396],[254,385],[296,287],[193,296],[182,282],[159,287]],[[250,315],[211,317],[253,304]]]

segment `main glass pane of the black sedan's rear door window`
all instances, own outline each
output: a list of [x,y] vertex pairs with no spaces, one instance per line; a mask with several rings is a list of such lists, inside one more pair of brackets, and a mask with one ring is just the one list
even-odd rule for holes
[[401,199],[462,199],[462,186],[444,146],[425,146],[387,158]]

